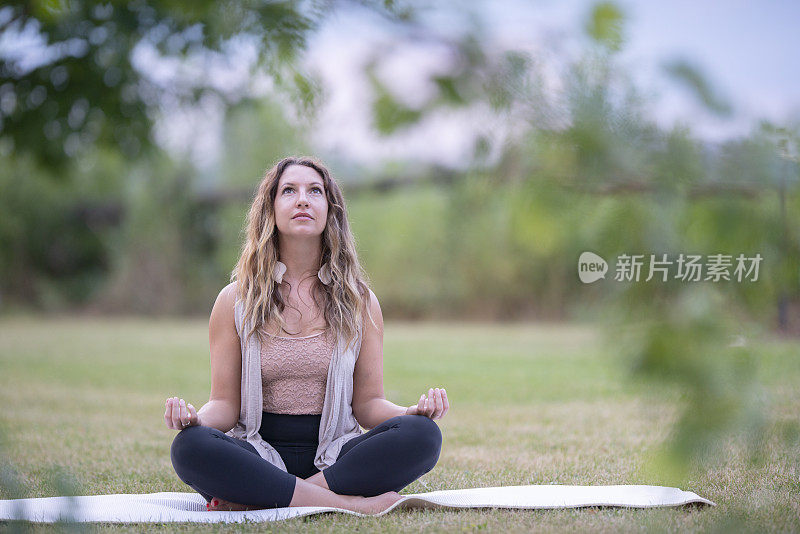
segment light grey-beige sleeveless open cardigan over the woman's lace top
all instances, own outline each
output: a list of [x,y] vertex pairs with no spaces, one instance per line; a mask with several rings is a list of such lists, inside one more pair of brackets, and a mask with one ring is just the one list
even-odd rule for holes
[[[234,318],[242,349],[242,399],[239,421],[226,434],[247,441],[262,458],[286,471],[286,465],[278,451],[258,433],[263,408],[261,342],[254,334],[245,344],[246,332],[250,330],[249,320],[244,321],[244,303],[239,299],[234,306]],[[352,408],[353,371],[361,350],[361,334],[359,325],[356,339],[349,347],[345,346],[347,341],[344,339],[338,339],[333,347],[319,425],[319,446],[314,458],[314,465],[320,470],[333,465],[342,446],[361,435],[361,428]]]

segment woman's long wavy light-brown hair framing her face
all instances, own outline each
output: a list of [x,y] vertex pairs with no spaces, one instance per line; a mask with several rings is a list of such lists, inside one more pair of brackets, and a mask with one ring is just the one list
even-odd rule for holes
[[[237,297],[244,303],[244,318],[250,324],[246,340],[255,333],[263,343],[266,324],[278,324],[286,330],[283,318],[286,302],[272,273],[280,260],[275,196],[278,182],[290,165],[305,165],[322,177],[328,199],[328,218],[322,233],[322,254],[317,269],[328,262],[332,282],[325,285],[315,277],[312,295],[317,309],[324,314],[326,327],[332,329],[336,339],[344,337],[349,346],[357,338],[365,317],[375,324],[369,311],[367,274],[358,261],[344,196],[336,180],[316,158],[295,156],[278,161],[261,179],[247,214],[241,255],[231,273],[231,281],[238,282]],[[288,282],[284,280],[283,283]]]

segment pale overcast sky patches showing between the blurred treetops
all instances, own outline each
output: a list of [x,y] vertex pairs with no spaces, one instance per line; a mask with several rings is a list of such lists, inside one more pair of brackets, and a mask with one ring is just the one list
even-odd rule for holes
[[[444,3],[446,4],[446,3]],[[722,140],[746,135],[760,118],[785,120],[800,115],[800,2],[742,0],[617,3],[627,16],[627,42],[620,61],[637,86],[655,98],[653,118],[664,126],[688,124],[699,137]],[[437,5],[442,5],[439,3]],[[461,2],[460,5],[464,5]],[[527,50],[534,56],[577,53],[583,43],[585,0],[497,0],[473,2],[491,39],[499,46]],[[458,32],[465,21],[458,10],[429,12],[430,24]],[[309,65],[330,86],[329,102],[315,134],[325,151],[361,161],[412,157],[455,164],[469,151],[469,132],[503,130],[490,113],[443,113],[404,135],[379,139],[368,126],[366,84],[359,81],[364,55],[387,39],[375,20],[342,12],[311,40]],[[719,119],[670,81],[662,65],[688,58],[733,106],[734,115]],[[421,102],[431,88],[425,73],[446,58],[435,49],[408,47],[384,66],[395,91],[407,103]]]

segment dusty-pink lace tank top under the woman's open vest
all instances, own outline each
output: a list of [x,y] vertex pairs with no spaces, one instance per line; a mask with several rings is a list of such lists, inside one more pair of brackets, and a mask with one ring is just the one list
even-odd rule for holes
[[321,414],[333,354],[329,330],[306,337],[267,334],[261,345],[265,412]]

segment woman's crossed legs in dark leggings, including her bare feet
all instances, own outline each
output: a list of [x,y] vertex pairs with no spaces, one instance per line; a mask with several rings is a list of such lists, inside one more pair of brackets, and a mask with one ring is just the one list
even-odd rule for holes
[[347,442],[336,463],[308,481],[270,464],[249,443],[210,427],[179,432],[170,457],[178,477],[209,501],[217,497],[258,508],[317,505],[378,511],[399,498],[387,493],[433,469],[441,439],[439,427],[427,417],[393,417]]

